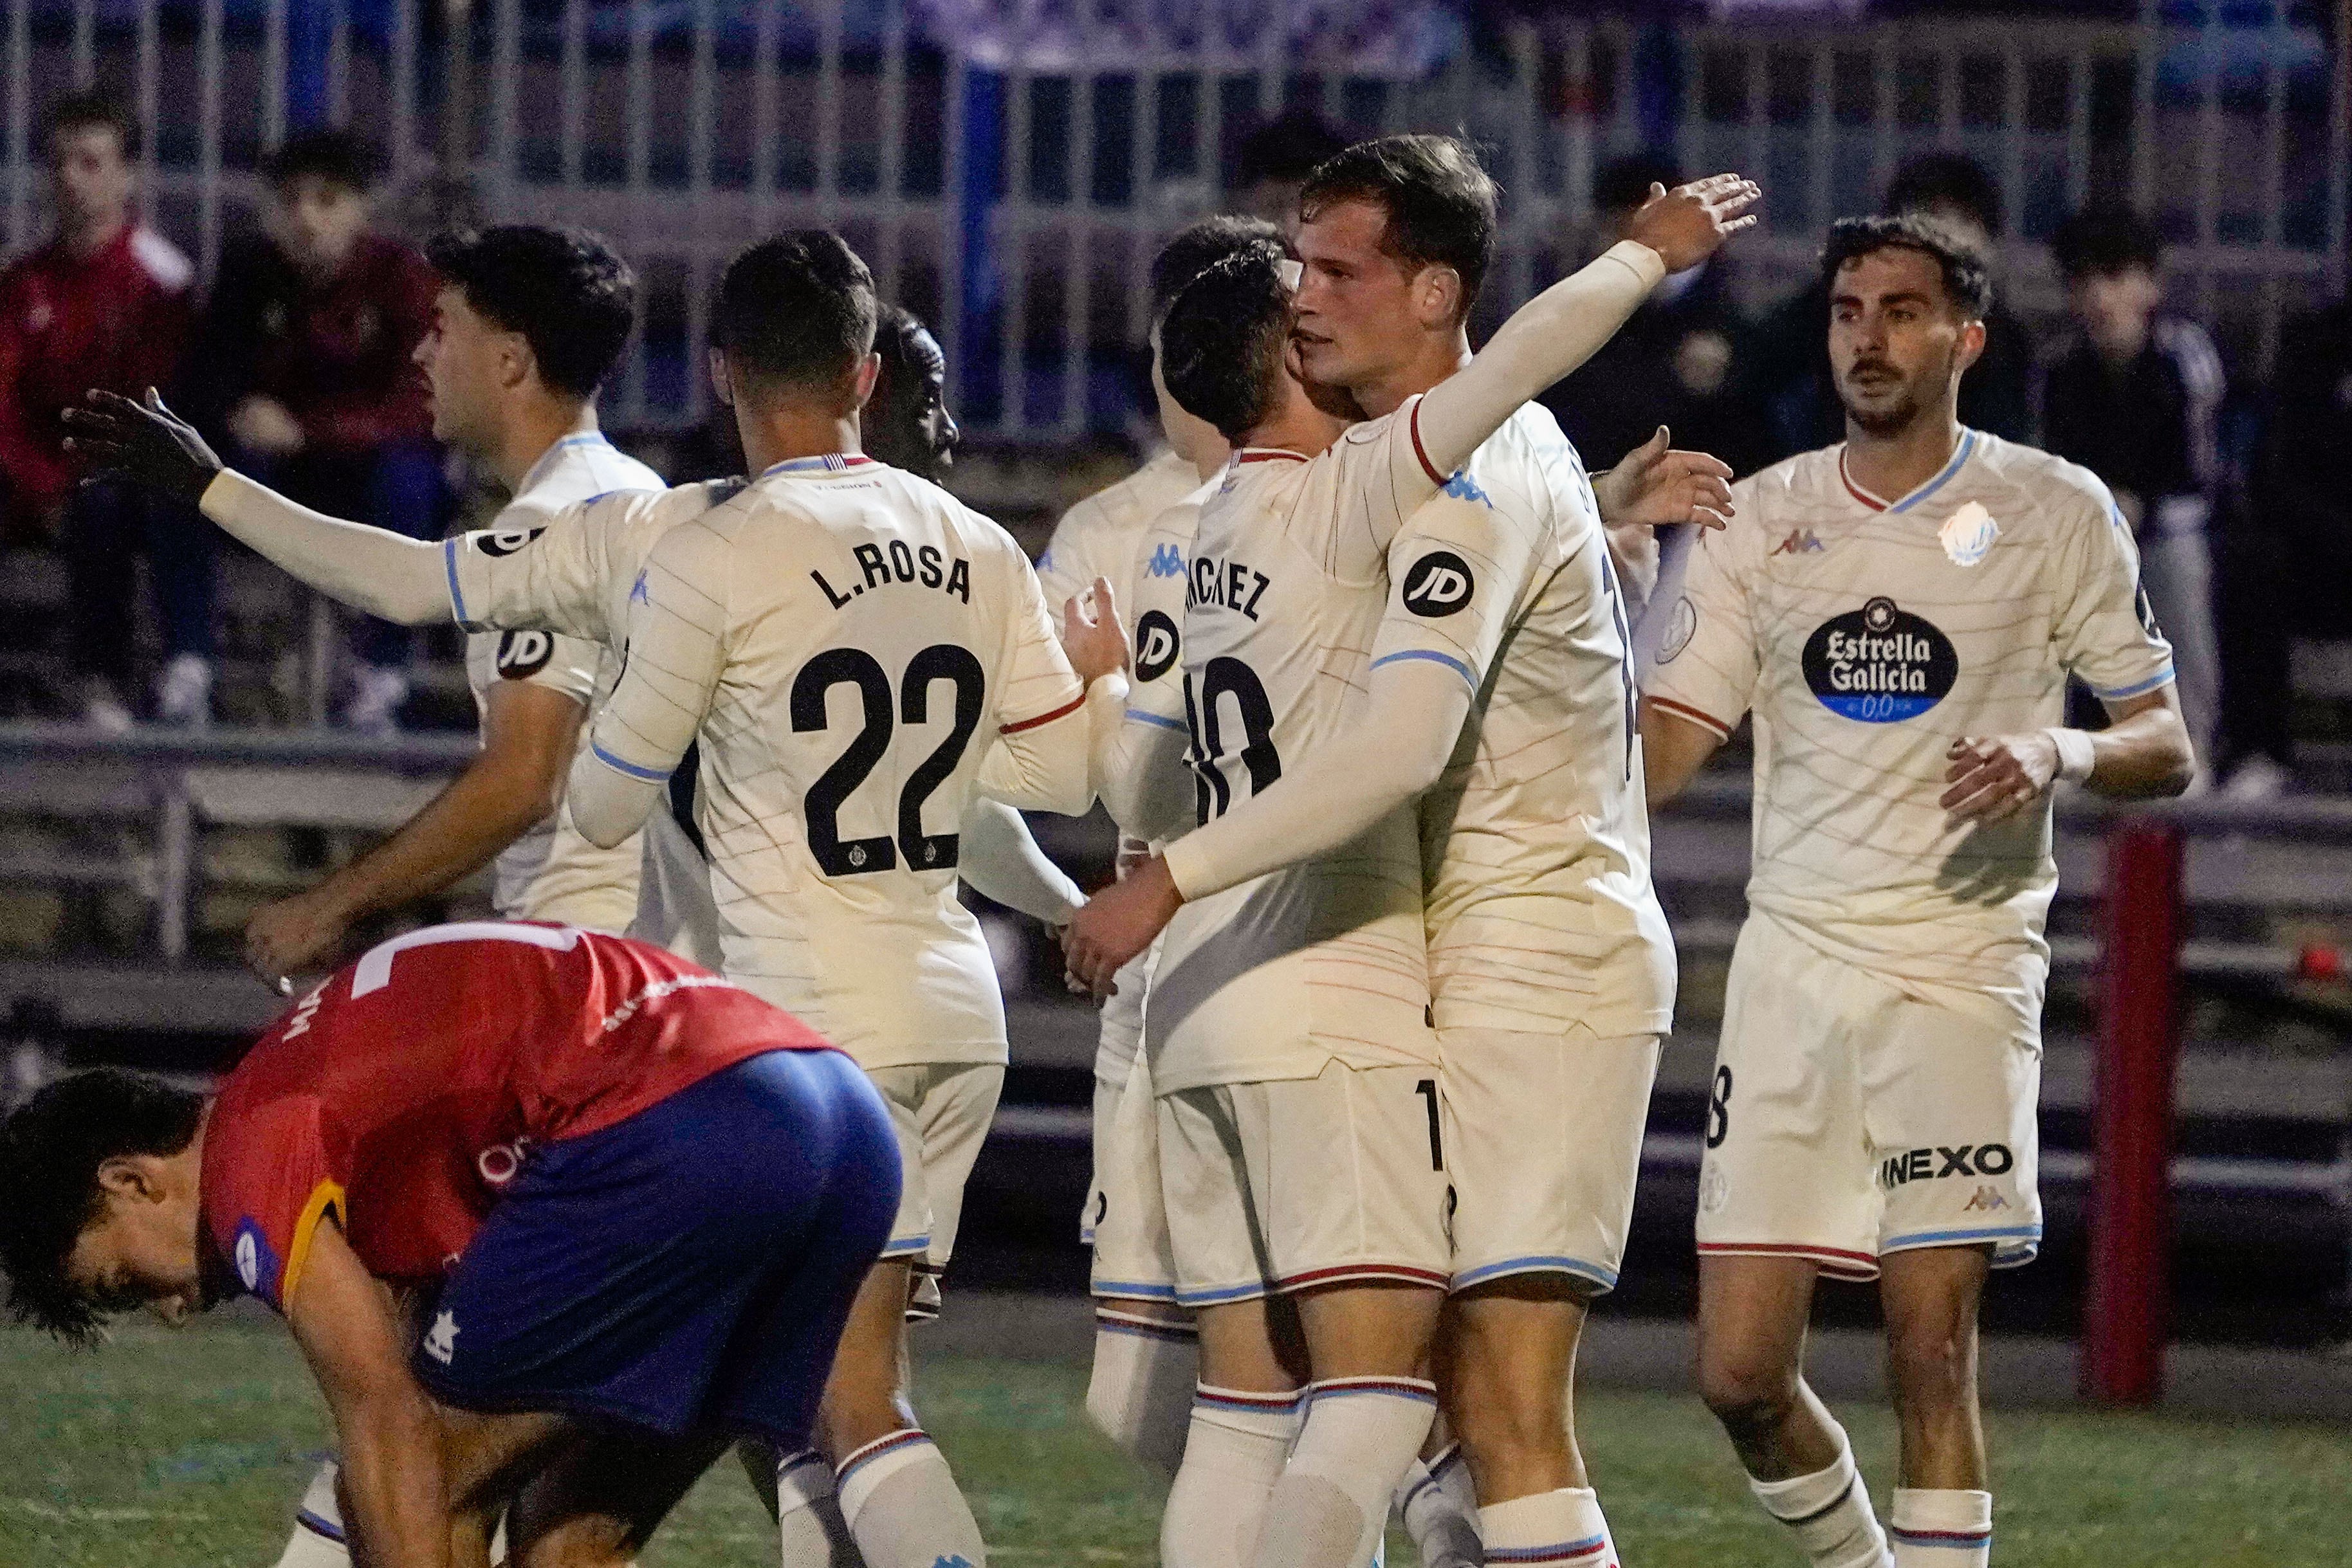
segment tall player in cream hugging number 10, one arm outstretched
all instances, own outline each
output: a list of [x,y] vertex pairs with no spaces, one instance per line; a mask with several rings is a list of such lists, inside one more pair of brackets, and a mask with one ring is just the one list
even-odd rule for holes
[[[1731,214],[1752,195],[1729,176],[1658,193],[1637,226],[1653,244],[1611,256],[1644,277],[1686,268],[1750,221]],[[1508,353],[1505,334],[1526,313],[1463,369],[1463,320],[1491,235],[1494,186],[1446,139],[1364,143],[1308,183],[1301,362],[1364,409],[1392,411],[1350,442],[1411,425],[1416,409],[1425,435],[1430,409]],[[1461,1465],[1439,1462],[1454,1502],[1416,1486],[1406,1523],[1428,1554],[1444,1535],[1432,1526],[1484,1505],[1489,1552],[1604,1563],[1606,1523],[1564,1427],[1566,1382],[1585,1298],[1613,1281],[1623,1248],[1672,947],[1649,889],[1623,604],[1602,515],[1712,520],[1724,473],[1653,442],[1611,475],[1597,505],[1550,416],[1519,407],[1581,355],[1552,362],[1550,343],[1531,348],[1524,369],[1536,378],[1498,383],[1517,397],[1477,440],[1418,454],[1421,494],[1442,494],[1378,541],[1388,611],[1364,649],[1362,717],[1310,755],[1284,752],[1279,780],[1101,893],[1070,947],[1082,971],[1098,971],[1195,896],[1327,853],[1428,792],[1425,929],[1444,1086],[1428,1110],[1451,1128],[1442,1145],[1456,1197],[1439,1371],[1477,1497],[1461,1495]],[[1148,642],[1141,599],[1136,637]],[[1138,708],[1145,675],[1138,665]],[[1444,1549],[1477,1561],[1477,1542]]]

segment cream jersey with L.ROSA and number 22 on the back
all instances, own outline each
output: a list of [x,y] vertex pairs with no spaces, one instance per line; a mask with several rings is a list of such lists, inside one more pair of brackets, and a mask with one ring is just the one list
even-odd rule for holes
[[[628,592],[595,757],[661,780],[699,738],[727,978],[866,1067],[1002,1063],[957,825],[1000,736],[1087,724],[1021,548],[908,473],[797,458],[663,534]],[[1080,766],[1061,809],[1084,792]]]

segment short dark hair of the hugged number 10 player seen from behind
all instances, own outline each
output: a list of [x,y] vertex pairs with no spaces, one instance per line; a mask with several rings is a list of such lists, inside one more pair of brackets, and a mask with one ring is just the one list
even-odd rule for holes
[[1160,376],[1185,414],[1228,442],[1265,423],[1291,339],[1282,247],[1256,242],[1211,261],[1160,322]]

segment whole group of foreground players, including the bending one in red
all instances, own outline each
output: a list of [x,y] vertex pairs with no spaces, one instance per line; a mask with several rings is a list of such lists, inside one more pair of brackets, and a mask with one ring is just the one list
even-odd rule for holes
[[[830,233],[717,287],[748,477],[663,489],[602,440],[626,327],[579,336],[630,284],[579,233],[435,252],[419,360],[513,496],[489,529],[308,512],[94,395],[85,456],[473,632],[485,757],[560,804],[513,849],[466,780],[428,806],[376,882],[506,849],[506,922],[369,950],[214,1098],[21,1107],[12,1305],[280,1312],[341,1439],[287,1568],[628,1563],[729,1448],[786,1568],[978,1568],[906,1387],[1007,1065],[969,882],[1103,999],[1087,1408],[1171,1476],[1162,1561],[1359,1568],[1395,1509],[1430,1566],[1613,1568],[1571,1375],[1672,1027],[1649,809],[1752,715],[1700,1389],[1813,1563],[1987,1561],[1976,1309],[2042,1232],[2051,790],[2194,762],[2107,491],[1957,421],[1987,282],[1931,219],[1832,228],[1837,447],[1733,484],[1661,430],[1595,475],[1531,402],[1757,200],[1653,188],[1475,355],[1496,188],[1458,141],[1348,148],[1289,233],[1183,230],[1169,454],[1035,569],[936,484],[941,355]],[[1668,524],[1698,543],[1661,571]],[[2063,724],[2070,677],[2105,729]],[[1096,804],[1120,879],[1084,898],[1018,811]],[[1884,1526],[1802,1375],[1823,1272],[1886,1302]]]

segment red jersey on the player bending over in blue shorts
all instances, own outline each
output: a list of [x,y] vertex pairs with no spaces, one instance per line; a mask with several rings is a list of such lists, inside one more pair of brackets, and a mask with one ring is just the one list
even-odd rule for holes
[[790,1013],[647,943],[426,926],[294,1004],[205,1126],[216,1260],[285,1312],[332,1213],[379,1279],[437,1279],[532,1145],[595,1133],[767,1051]]

